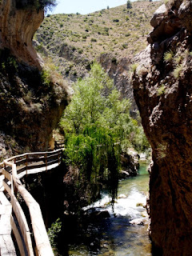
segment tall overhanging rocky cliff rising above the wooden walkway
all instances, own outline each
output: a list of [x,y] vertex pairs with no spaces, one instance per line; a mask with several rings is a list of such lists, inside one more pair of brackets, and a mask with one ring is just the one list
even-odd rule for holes
[[0,158],[47,150],[69,95],[32,46],[44,11],[28,2],[0,1]]

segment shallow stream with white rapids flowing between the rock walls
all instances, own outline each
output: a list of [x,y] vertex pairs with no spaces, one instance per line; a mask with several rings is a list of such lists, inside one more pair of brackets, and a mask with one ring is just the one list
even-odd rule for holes
[[[86,207],[96,213],[110,213],[110,218],[93,215],[94,218],[82,226],[82,234],[78,234],[75,242],[68,244],[70,256],[103,255],[103,256],[150,256],[150,240],[148,238],[146,217],[146,194],[148,192],[149,174],[146,166],[140,166],[135,178],[122,180],[118,185],[118,199],[114,209],[110,206],[110,198],[102,195],[102,200]],[[131,225],[130,221],[140,219],[145,225]]]

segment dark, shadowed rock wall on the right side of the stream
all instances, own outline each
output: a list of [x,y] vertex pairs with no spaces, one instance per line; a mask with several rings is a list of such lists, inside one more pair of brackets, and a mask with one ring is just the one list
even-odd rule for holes
[[132,78],[153,150],[149,214],[155,255],[190,256],[192,249],[191,13],[190,1],[175,0],[154,14],[150,46],[135,58]]

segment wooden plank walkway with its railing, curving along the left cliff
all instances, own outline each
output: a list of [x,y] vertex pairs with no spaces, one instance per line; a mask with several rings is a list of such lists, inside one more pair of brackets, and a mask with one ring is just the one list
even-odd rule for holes
[[[28,174],[49,171],[62,161],[62,150],[26,153],[0,163],[0,256],[54,256],[38,202],[20,182]],[[17,198],[28,207],[25,214]],[[30,214],[29,218],[26,215]],[[28,219],[28,222],[27,222]]]

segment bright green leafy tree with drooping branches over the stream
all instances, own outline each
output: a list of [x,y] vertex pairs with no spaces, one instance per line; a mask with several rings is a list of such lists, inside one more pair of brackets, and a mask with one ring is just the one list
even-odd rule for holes
[[129,100],[121,99],[113,81],[94,63],[89,77],[74,86],[74,96],[61,121],[66,162],[78,168],[79,184],[94,187],[106,182],[112,198],[122,151],[129,146],[138,150],[148,147],[142,128],[130,118],[129,106]]

